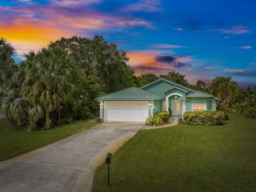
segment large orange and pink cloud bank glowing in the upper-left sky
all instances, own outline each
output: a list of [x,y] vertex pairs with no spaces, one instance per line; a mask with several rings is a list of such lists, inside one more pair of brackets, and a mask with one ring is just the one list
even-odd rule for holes
[[[76,3],[73,0],[58,3]],[[66,9],[65,7],[2,6],[0,34],[8,39],[19,54],[45,47],[60,37],[95,34],[95,30],[143,26],[154,28],[151,23],[131,16],[115,17],[112,14],[92,12],[90,9]]]

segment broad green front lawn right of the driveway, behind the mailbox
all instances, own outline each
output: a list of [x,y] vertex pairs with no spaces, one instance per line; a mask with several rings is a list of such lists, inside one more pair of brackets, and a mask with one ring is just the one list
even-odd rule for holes
[[93,191],[256,191],[256,119],[139,131],[95,171]]

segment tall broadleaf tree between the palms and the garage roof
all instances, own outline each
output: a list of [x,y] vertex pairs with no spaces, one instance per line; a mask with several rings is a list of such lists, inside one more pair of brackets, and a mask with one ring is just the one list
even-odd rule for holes
[[118,51],[115,44],[108,44],[102,36],[61,38],[49,46],[67,50],[78,67],[91,73],[92,83],[98,84],[104,93],[134,86],[138,82],[132,69],[126,65],[126,52]]

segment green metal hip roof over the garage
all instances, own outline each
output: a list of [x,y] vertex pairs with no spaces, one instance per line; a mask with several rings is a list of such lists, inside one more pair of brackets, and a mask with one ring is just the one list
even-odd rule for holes
[[130,87],[121,91],[106,94],[101,97],[95,98],[95,100],[158,100],[163,99],[153,93],[149,93],[145,90],[137,87]]

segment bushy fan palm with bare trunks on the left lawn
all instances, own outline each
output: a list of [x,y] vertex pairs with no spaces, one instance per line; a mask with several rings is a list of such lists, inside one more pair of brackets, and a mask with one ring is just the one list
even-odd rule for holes
[[60,106],[71,96],[73,66],[67,52],[59,48],[30,52],[26,58],[22,95],[44,108],[46,128],[50,129],[50,111],[58,108],[60,118]]

